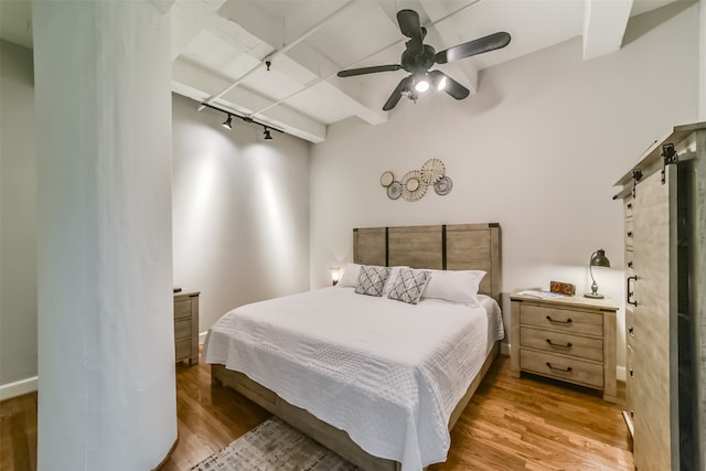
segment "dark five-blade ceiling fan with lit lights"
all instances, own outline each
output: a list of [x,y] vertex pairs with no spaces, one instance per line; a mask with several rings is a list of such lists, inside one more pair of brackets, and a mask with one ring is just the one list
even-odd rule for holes
[[430,84],[437,89],[445,90],[456,99],[463,99],[469,95],[469,89],[446,75],[439,69],[429,71],[434,64],[446,64],[459,58],[470,57],[484,52],[505,47],[510,43],[510,34],[498,32],[478,40],[458,44],[441,52],[436,52],[434,47],[424,44],[427,29],[419,22],[419,14],[414,10],[399,10],[397,22],[402,33],[409,38],[405,43],[405,51],[402,53],[399,64],[376,65],[373,67],[349,68],[341,71],[339,77],[352,77],[355,75],[374,74],[377,72],[394,72],[404,68],[409,75],[403,78],[393,94],[387,98],[383,110],[393,109],[402,96],[407,96],[416,101],[418,93],[429,89]]

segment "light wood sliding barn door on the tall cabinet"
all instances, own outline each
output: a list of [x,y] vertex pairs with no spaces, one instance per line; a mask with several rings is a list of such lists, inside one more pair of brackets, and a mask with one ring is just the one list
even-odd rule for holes
[[[670,176],[641,181],[634,197],[634,457],[639,470],[670,470],[673,463],[672,362],[675,334],[670,256]],[[676,459],[678,462],[678,458]],[[678,469],[678,468],[677,468]]]

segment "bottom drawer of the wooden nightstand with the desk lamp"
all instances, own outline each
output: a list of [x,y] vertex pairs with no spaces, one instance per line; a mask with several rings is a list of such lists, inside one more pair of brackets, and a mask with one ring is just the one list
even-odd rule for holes
[[520,366],[523,371],[537,373],[543,376],[589,387],[603,387],[602,364],[521,349]]

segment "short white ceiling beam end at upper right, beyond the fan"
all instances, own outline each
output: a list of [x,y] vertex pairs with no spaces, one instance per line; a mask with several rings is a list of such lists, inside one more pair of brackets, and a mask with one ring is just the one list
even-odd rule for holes
[[620,50],[633,0],[586,0],[584,61]]

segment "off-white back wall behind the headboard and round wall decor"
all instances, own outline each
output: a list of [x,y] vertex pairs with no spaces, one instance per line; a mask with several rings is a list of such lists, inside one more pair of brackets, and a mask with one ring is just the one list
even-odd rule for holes
[[[697,17],[689,8],[592,61],[581,61],[577,38],[486,69],[479,94],[460,103],[403,98],[385,125],[331,126],[311,158],[312,286],[352,259],[354,227],[498,222],[504,291],[557,279],[585,292],[589,256],[602,247],[613,269],[596,270],[600,290],[622,303],[612,185],[671,126],[696,119]],[[391,75],[391,90],[397,79]],[[429,158],[446,163],[449,195],[387,199],[381,173],[402,176]],[[506,300],[504,311],[509,324]],[[622,323],[621,314],[620,331]],[[624,343],[619,352],[624,364]]]

